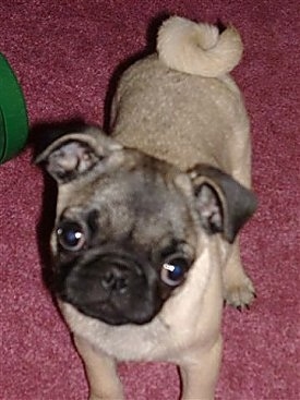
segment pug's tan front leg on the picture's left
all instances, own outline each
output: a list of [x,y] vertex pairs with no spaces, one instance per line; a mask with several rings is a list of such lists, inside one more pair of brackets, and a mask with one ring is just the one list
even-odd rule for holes
[[74,337],[76,349],[84,362],[89,384],[89,400],[122,400],[123,391],[116,361],[106,356],[80,337]]

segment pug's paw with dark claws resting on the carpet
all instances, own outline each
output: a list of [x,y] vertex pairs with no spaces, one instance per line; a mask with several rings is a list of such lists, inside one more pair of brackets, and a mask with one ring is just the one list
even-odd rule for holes
[[256,298],[255,289],[250,278],[247,276],[241,282],[228,284],[225,289],[225,302],[238,310],[248,308]]

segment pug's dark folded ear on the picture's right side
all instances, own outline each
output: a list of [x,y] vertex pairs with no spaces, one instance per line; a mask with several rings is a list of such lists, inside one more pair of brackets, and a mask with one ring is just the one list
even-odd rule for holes
[[229,174],[199,165],[189,171],[200,220],[209,234],[220,232],[232,243],[256,209],[256,197]]

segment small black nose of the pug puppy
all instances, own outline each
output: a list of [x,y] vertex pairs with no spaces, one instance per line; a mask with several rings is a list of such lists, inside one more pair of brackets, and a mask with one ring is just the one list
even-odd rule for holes
[[130,271],[116,266],[110,267],[100,279],[100,284],[106,291],[125,293],[129,288]]

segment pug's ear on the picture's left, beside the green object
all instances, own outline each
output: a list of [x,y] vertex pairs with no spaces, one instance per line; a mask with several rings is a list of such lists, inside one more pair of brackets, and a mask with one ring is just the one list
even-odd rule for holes
[[36,158],[59,183],[68,183],[94,168],[105,171],[111,155],[122,146],[96,126],[69,132],[49,144]]

